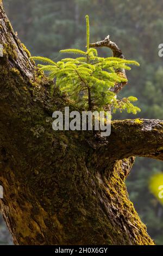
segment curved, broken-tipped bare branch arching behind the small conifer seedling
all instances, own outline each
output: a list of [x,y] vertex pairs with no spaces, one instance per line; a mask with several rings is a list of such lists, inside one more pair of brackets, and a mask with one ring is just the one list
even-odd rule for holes
[[[95,42],[94,44],[90,44],[90,47],[96,47],[96,48],[97,47],[108,47],[112,50],[114,57],[124,59],[121,49],[118,48],[118,46],[115,44],[115,42],[110,41],[109,37],[110,36],[108,35],[108,36],[106,36],[106,38],[104,40]],[[123,76],[126,77],[126,72],[124,69],[123,70],[118,69],[118,70],[116,70],[116,72],[117,73],[121,72],[123,74]],[[124,86],[126,86],[126,84],[127,84],[127,82],[117,83],[110,90],[111,90],[111,92],[118,93],[118,92],[120,92],[120,90],[122,90],[122,88]]]

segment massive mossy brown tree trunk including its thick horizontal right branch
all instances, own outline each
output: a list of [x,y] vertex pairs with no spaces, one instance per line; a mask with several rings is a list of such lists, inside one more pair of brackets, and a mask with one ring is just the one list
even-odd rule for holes
[[52,113],[68,102],[49,93],[1,0],[0,24],[0,203],[14,243],[153,245],[124,181],[134,156],[163,160],[163,123],[113,121],[108,138],[54,132]]

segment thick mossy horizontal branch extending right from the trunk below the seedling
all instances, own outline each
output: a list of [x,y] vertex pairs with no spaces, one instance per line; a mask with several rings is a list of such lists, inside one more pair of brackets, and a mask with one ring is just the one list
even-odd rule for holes
[[150,157],[163,161],[163,121],[136,119],[112,121],[108,138],[95,136],[90,141],[99,156],[112,161],[130,156]]

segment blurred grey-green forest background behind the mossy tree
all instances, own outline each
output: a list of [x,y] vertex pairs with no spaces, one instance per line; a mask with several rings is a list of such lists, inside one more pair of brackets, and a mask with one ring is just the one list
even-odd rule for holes
[[[162,0],[4,0],[12,26],[33,56],[59,60],[59,50],[85,49],[85,15],[90,16],[91,42],[110,34],[127,59],[140,68],[128,73],[129,85],[121,95],[136,96],[141,113],[117,113],[114,119],[148,118],[163,120]],[[107,48],[99,51],[110,56]],[[130,200],[158,245],[163,244],[163,206],[149,191],[149,179],[163,172],[163,163],[137,158],[127,179]],[[161,184],[162,185],[162,184]],[[121,196],[121,195],[120,195]],[[0,244],[11,244],[8,230],[0,221]]]

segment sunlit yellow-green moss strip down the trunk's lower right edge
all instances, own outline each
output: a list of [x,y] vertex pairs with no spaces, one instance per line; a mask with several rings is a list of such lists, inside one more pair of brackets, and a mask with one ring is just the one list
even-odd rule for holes
[[[137,212],[134,209],[133,203],[131,203],[128,198],[128,193],[124,184],[124,179],[126,178],[126,175],[124,175],[126,167],[124,166],[129,167],[130,165],[130,159],[117,161],[109,177],[105,180],[107,184],[107,189],[106,187],[104,187],[103,189],[107,192],[107,197],[110,198],[111,204],[114,209],[117,209],[117,212],[120,211],[119,209],[121,209],[120,222],[122,220],[127,220],[130,223],[131,227],[134,227],[133,244],[153,245],[153,241],[147,234],[146,226],[141,222],[139,216],[137,215]],[[118,233],[117,239],[121,240],[121,235]],[[128,240],[127,237],[126,240]]]

